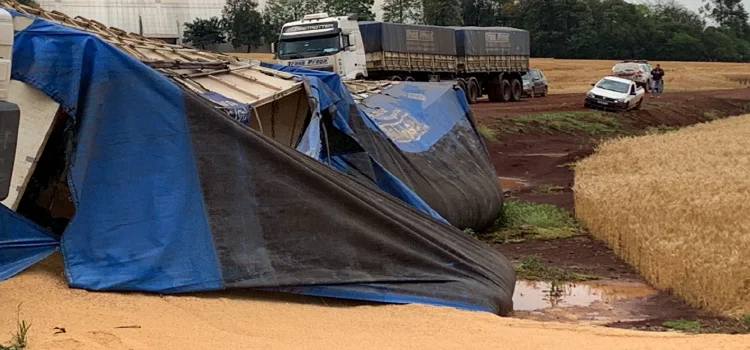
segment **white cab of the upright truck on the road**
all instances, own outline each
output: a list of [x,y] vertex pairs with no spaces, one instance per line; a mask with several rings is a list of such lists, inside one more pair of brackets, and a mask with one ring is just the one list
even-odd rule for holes
[[286,23],[271,50],[281,65],[335,72],[345,80],[367,77],[364,43],[354,15],[329,17],[323,12]]

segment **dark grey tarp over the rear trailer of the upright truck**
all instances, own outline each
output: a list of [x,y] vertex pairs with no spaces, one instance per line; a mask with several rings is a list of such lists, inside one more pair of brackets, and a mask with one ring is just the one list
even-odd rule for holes
[[529,32],[510,27],[452,27],[459,56],[530,54]]

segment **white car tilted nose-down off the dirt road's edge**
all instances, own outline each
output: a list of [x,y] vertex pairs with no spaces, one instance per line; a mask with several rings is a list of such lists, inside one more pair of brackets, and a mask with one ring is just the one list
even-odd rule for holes
[[591,86],[594,88],[586,93],[584,101],[586,108],[619,111],[640,109],[646,95],[646,90],[625,78],[604,77]]

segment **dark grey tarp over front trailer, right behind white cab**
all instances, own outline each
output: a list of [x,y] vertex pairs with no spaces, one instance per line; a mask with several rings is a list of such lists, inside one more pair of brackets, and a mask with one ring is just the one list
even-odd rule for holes
[[447,27],[362,21],[359,30],[365,52],[456,55],[456,39]]

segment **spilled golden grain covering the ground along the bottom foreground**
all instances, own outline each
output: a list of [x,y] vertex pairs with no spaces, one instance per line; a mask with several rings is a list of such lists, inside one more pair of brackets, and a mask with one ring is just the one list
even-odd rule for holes
[[0,283],[0,300],[0,342],[10,339],[20,304],[21,319],[31,322],[30,350],[737,349],[750,343],[750,336],[643,333],[243,291],[92,293],[68,288],[59,256]]

